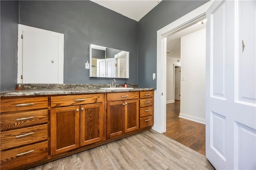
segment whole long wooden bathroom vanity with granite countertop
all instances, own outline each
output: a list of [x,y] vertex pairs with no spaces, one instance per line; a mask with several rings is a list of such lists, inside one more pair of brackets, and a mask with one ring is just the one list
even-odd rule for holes
[[148,130],[154,89],[1,92],[1,169],[27,169]]

